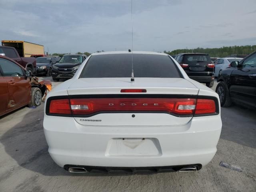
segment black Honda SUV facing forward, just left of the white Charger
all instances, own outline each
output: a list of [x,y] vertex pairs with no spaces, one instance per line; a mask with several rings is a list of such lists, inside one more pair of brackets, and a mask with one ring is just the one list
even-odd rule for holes
[[72,78],[79,66],[84,60],[86,60],[86,55],[79,54],[66,54],[64,55],[57,64],[52,67],[52,79],[54,81],[59,81],[63,78]]

